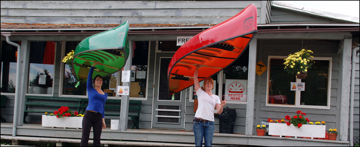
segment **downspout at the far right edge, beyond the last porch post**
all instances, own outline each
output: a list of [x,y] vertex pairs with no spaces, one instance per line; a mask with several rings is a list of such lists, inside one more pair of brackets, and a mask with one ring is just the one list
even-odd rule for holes
[[351,86],[350,86],[350,146],[354,145],[354,87],[355,87],[355,60],[356,60],[356,52],[359,51],[359,47],[356,47],[352,50],[352,62],[351,62]]

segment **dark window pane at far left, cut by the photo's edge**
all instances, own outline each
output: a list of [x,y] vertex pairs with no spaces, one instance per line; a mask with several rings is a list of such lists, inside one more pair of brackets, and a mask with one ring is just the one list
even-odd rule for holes
[[[18,41],[17,44],[21,44]],[[1,46],[1,92],[15,93],[17,47],[2,42]]]

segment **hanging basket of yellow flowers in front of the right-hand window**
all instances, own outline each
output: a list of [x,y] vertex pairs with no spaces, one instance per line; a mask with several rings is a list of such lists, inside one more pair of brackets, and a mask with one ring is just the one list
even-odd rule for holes
[[284,59],[284,70],[289,74],[296,74],[297,79],[305,79],[307,70],[309,70],[315,62],[311,60],[314,58],[310,55],[311,50],[302,49],[294,54],[289,54],[288,58]]

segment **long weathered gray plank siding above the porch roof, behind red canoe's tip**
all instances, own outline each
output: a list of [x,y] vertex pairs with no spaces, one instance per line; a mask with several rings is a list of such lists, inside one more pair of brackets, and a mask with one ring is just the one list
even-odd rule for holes
[[[266,2],[266,1],[265,1]],[[261,1],[1,1],[1,23],[218,24]]]

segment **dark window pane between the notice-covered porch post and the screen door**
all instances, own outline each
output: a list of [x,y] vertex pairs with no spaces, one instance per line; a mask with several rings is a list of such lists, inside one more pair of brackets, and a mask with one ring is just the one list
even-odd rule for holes
[[[132,56],[130,97],[146,97],[149,41],[134,41]],[[122,85],[122,83],[121,83]]]

